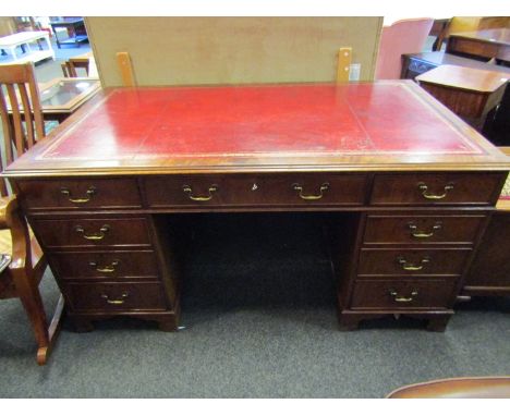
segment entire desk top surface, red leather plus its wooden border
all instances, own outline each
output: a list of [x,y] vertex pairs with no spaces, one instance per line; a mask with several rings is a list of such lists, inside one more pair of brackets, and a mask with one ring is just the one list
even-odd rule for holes
[[280,167],[320,166],[327,158],[324,164],[333,168],[347,159],[386,163],[385,155],[397,163],[451,163],[462,155],[494,161],[484,157],[493,150],[481,140],[409,81],[117,88],[96,97],[8,171],[77,170],[84,163],[134,169],[156,166],[156,159],[158,167],[186,169],[246,158],[252,167],[275,160]]

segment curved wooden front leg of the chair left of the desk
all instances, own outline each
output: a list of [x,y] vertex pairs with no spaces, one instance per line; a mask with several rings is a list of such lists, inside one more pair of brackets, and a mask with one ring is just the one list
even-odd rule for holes
[[17,295],[32,323],[37,345],[39,348],[48,348],[48,325],[39,289],[34,284],[34,281],[29,279],[25,269],[11,269],[11,273]]

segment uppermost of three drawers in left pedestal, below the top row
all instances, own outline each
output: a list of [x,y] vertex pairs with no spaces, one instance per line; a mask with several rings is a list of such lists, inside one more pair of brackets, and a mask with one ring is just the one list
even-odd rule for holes
[[150,245],[145,218],[35,220],[33,224],[47,248]]

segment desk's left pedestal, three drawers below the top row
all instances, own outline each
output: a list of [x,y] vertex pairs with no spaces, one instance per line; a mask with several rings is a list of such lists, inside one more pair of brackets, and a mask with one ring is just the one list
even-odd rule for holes
[[36,234],[80,331],[113,316],[179,321],[178,278],[150,215],[34,218]]

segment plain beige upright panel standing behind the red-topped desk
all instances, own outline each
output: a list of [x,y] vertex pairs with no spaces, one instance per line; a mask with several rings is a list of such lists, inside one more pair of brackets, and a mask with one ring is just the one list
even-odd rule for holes
[[381,17],[87,17],[104,86],[122,84],[129,52],[138,85],[331,82],[337,51],[353,48],[374,76]]

